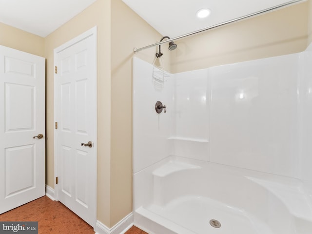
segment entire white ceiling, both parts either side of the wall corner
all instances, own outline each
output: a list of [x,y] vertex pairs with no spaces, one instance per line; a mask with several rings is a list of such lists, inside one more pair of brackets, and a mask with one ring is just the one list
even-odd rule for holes
[[[0,22],[46,37],[96,0],[0,0]],[[123,0],[163,36],[171,38],[290,0]],[[209,8],[211,15],[195,13]]]

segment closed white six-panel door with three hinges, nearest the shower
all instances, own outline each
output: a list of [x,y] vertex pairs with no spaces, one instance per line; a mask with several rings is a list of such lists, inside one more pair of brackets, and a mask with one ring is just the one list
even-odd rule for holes
[[[57,198],[96,224],[96,29],[55,49]],[[93,143],[92,147],[81,145]]]

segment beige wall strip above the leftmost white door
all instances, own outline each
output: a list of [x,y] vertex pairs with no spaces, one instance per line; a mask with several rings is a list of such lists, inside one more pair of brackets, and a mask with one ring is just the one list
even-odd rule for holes
[[44,38],[0,23],[0,45],[44,57]]

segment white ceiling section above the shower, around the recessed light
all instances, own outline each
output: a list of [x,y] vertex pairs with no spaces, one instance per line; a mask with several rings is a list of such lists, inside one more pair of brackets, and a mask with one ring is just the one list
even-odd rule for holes
[[[170,38],[233,20],[291,0],[122,0],[161,35]],[[198,19],[196,12],[211,14]]]

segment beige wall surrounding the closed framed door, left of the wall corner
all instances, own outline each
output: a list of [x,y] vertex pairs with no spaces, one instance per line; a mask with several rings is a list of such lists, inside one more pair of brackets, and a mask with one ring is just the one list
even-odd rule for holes
[[98,220],[110,225],[110,1],[98,0],[45,38],[47,59],[47,184],[54,187],[53,50],[98,26]]

